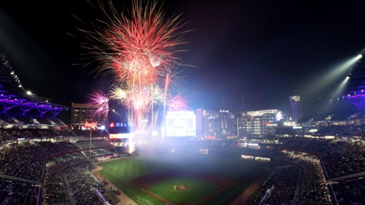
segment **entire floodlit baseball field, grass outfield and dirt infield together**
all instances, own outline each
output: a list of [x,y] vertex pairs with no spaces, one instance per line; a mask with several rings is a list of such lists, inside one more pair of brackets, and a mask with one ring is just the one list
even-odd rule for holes
[[139,205],[229,204],[264,162],[219,155],[153,154],[106,161],[99,173]]

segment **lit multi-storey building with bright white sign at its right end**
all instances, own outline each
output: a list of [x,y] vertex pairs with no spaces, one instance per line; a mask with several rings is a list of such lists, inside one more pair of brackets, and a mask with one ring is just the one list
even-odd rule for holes
[[237,119],[239,137],[265,137],[273,134],[273,126],[282,119],[280,110],[257,110],[242,112]]

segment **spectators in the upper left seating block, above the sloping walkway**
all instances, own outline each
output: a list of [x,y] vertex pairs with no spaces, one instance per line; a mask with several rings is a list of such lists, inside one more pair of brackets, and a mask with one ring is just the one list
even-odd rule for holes
[[0,173],[40,181],[47,156],[78,149],[70,142],[38,142],[5,146],[0,152]]

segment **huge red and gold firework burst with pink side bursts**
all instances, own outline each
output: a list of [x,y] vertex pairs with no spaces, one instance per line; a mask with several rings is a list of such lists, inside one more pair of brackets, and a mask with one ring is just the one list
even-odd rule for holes
[[[166,102],[168,89],[181,90],[181,70],[176,56],[177,46],[183,44],[179,32],[183,26],[180,15],[165,18],[156,2],[142,6],[133,0],[132,10],[125,15],[117,12],[111,1],[106,9],[99,4],[105,20],[98,20],[100,29],[82,31],[89,44],[83,47],[100,62],[97,73],[111,74],[116,84],[111,87],[110,98],[117,100],[128,110],[130,124],[135,131],[143,130],[157,104],[166,103],[169,109],[186,109],[187,101],[179,94]],[[173,63],[171,63],[173,62]],[[91,103],[99,103],[99,97],[106,97],[100,90],[90,95]],[[107,98],[106,98],[107,99]],[[104,107],[98,110],[101,114]]]

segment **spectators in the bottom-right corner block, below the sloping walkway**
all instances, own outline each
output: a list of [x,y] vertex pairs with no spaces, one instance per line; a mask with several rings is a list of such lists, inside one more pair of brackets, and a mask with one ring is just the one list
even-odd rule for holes
[[332,188],[340,205],[365,204],[365,178],[332,184]]

